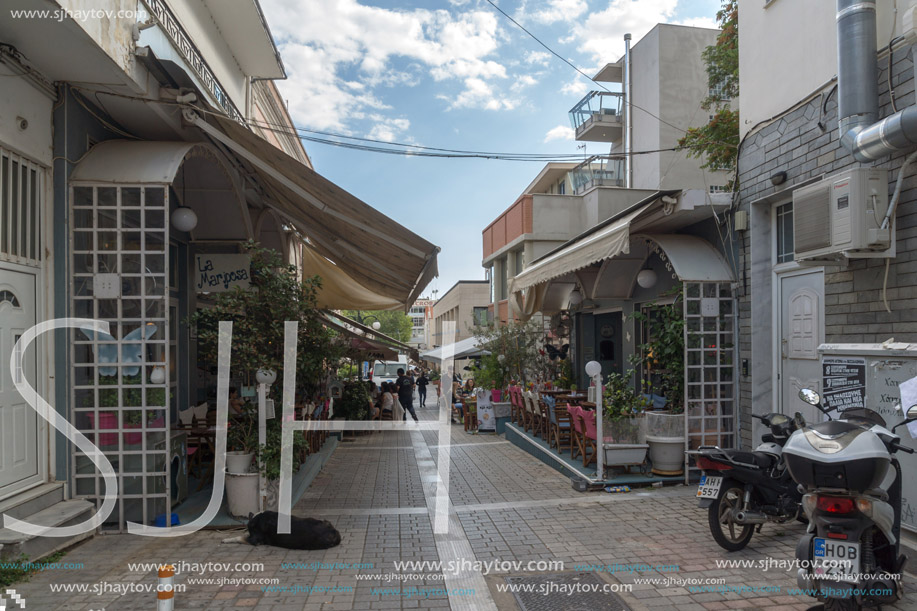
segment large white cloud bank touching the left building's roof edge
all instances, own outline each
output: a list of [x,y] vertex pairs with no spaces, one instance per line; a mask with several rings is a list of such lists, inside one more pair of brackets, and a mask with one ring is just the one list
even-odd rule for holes
[[502,35],[493,11],[389,10],[357,0],[307,8],[302,0],[265,0],[263,6],[289,75],[279,86],[298,124],[345,130],[349,121],[386,108],[377,88],[413,87],[425,76],[458,85],[458,93],[446,96],[452,108],[515,106],[495,86],[507,72],[491,58]]

